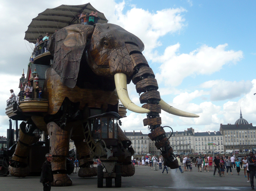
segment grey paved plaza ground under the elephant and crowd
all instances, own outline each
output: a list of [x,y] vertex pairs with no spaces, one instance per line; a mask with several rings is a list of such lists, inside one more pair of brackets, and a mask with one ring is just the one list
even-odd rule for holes
[[[169,174],[162,174],[161,171],[153,171],[148,166],[136,166],[135,175],[133,177],[122,177],[122,187],[106,188],[105,180],[103,188],[97,188],[97,178],[79,178],[77,174],[71,174],[73,185],[70,187],[52,187],[51,190],[251,190],[250,183],[244,176],[244,171],[237,175],[233,168],[234,175],[225,175],[213,177],[213,170],[210,172],[198,172],[193,166],[192,172],[178,172],[170,170]],[[256,180],[254,179],[255,186]],[[8,175],[8,177],[0,177],[0,190],[5,191],[27,191],[27,190],[43,190],[39,177],[16,178]]]

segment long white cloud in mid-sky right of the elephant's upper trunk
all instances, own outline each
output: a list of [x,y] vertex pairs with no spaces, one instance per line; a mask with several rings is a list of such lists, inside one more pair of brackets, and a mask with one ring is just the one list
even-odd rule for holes
[[222,69],[223,65],[235,64],[243,58],[241,50],[225,50],[226,43],[216,48],[203,45],[189,54],[178,54],[179,46],[179,43],[169,46],[162,56],[153,59],[154,62],[163,63],[160,74],[156,74],[158,82],[178,86],[185,77],[210,75]]

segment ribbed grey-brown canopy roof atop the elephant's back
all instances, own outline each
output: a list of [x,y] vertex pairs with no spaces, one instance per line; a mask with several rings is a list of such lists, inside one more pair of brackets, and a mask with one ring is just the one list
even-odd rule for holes
[[104,14],[94,9],[90,3],[84,5],[60,5],[57,8],[46,9],[32,19],[25,32],[24,39],[36,43],[39,35],[45,36],[46,33],[51,35],[63,27],[79,24],[78,14],[82,12],[91,13],[92,11],[98,12],[98,23],[107,23],[108,20]]

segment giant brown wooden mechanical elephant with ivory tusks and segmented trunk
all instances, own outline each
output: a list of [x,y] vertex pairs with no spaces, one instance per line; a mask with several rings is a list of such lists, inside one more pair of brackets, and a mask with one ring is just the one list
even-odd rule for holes
[[[54,57],[52,68],[46,71],[44,91],[48,92],[47,115],[32,116],[34,124],[50,136],[50,151],[53,155],[53,185],[72,185],[65,171],[65,158],[70,138],[79,155],[79,175],[96,175],[92,164],[92,150],[85,138],[87,119],[95,114],[117,111],[119,99],[124,107],[136,113],[147,113],[143,120],[164,157],[165,165],[177,168],[178,162],[170,146],[169,138],[161,126],[161,109],[185,117],[198,115],[180,111],[166,104],[157,91],[154,72],[142,55],[143,42],[132,33],[114,24],[71,25],[54,33],[47,49]],[[136,106],[128,96],[127,84],[136,85],[141,94],[142,107]],[[119,128],[120,141],[128,138]],[[27,143],[31,144],[31,143]],[[96,143],[95,143],[96,144]],[[128,149],[128,146],[124,146]],[[95,154],[95,153],[94,153]],[[130,156],[120,159],[123,175],[129,173]]]

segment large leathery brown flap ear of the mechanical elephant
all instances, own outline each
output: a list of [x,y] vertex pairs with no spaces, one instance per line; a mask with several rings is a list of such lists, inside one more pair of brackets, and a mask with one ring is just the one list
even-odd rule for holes
[[54,56],[53,69],[61,82],[73,88],[77,84],[80,62],[86,40],[92,35],[94,26],[71,25],[54,33],[47,49]]

